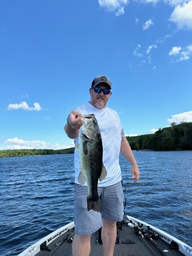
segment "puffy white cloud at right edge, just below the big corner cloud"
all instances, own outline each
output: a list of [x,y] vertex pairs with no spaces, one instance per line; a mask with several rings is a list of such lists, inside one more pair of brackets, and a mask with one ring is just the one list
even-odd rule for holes
[[192,55],[192,44],[181,48],[180,46],[174,46],[169,52],[169,56],[176,57],[176,59],[171,60],[171,63],[179,62],[183,60],[189,60]]

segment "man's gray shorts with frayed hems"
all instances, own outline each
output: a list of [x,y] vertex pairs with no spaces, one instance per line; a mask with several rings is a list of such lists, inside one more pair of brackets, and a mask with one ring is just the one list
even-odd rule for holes
[[102,227],[102,218],[123,220],[123,190],[121,182],[108,187],[98,187],[102,212],[87,210],[87,186],[74,186],[74,222],[77,235],[89,235]]

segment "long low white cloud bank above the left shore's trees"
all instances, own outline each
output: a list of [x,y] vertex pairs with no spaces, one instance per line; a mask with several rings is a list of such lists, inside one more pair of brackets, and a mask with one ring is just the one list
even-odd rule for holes
[[72,148],[74,147],[74,142],[72,141],[71,144],[58,144],[58,143],[46,143],[42,140],[23,140],[19,139],[18,137],[9,138],[2,142],[4,146],[0,148],[0,150],[6,149],[64,149],[64,148]]

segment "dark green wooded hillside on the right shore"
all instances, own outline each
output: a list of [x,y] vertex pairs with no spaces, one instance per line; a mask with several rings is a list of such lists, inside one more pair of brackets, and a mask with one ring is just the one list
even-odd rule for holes
[[173,122],[154,134],[126,138],[132,150],[192,150],[192,122]]

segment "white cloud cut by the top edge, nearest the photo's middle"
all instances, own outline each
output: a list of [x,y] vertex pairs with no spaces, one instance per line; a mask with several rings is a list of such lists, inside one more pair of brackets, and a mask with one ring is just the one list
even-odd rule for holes
[[124,6],[128,0],[98,0],[100,7],[106,8],[109,12],[117,10],[116,16],[124,14]]

